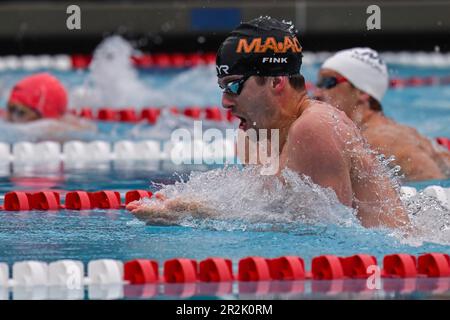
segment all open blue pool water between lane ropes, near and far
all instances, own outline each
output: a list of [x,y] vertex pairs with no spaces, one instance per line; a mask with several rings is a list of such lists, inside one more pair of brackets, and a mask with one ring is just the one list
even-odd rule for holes
[[[303,67],[308,81],[315,80],[317,69],[318,65]],[[450,68],[391,65],[390,72],[397,77],[448,75]],[[87,81],[87,71],[54,73],[70,88],[72,101],[89,102],[86,97],[73,97],[77,88]],[[8,72],[1,75],[2,104],[5,103],[8,89],[24,74]],[[216,88],[213,67],[182,71],[140,71],[136,79],[134,80],[138,81],[139,85],[158,92],[158,96],[155,96],[156,103],[152,103],[151,95],[140,100],[134,97],[136,106],[220,104],[220,92]],[[114,98],[114,93],[111,95]],[[97,103],[101,105],[103,102]],[[95,104],[93,105],[95,107]],[[383,106],[388,116],[416,127],[424,135],[450,137],[450,86],[390,90]],[[142,131],[136,132],[132,125],[98,123],[99,132],[87,136],[86,139],[148,138],[140,136],[140,132],[144,132],[148,127],[150,126],[141,125]],[[5,133],[2,141],[18,140],[21,138]],[[3,197],[10,190],[43,188],[155,191],[157,187],[152,186],[151,182],[172,184],[178,179],[175,172],[187,176],[192,170],[210,169],[213,167],[174,166],[164,162],[108,162],[49,171],[38,165],[25,170],[19,165],[7,163],[0,164],[0,195]],[[450,187],[450,180],[425,181],[410,185],[419,189],[428,185]],[[306,227],[300,225],[298,228],[278,231],[229,226],[217,228],[211,225],[147,226],[126,210],[0,212],[0,261],[9,264],[21,260],[76,259],[88,262],[98,258],[129,260],[145,257],[163,261],[174,257],[203,259],[209,256],[229,257],[236,264],[240,258],[250,255],[298,255],[309,264],[313,256],[321,254],[345,256],[370,253],[382,258],[385,254],[398,252],[450,254],[450,242],[425,241],[414,245],[389,235],[386,230],[331,224]]]

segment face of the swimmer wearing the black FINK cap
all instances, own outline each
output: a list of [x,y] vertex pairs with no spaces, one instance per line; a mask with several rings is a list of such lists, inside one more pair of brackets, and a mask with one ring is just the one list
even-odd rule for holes
[[255,130],[276,128],[272,123],[274,108],[270,92],[266,88],[268,84],[259,84],[256,79],[255,76],[245,80],[241,75],[230,75],[218,80],[221,88],[232,87],[239,80],[245,80],[240,84],[239,93],[225,89],[222,94],[222,106],[239,118],[241,121],[239,128],[244,131],[250,128]]

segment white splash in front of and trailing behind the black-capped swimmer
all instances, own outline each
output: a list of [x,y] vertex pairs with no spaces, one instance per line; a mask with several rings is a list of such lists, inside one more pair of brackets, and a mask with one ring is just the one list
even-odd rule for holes
[[[328,225],[357,232],[364,229],[355,216],[355,210],[342,205],[332,189],[322,188],[309,177],[299,176],[288,169],[283,170],[282,176],[284,184],[273,176],[260,175],[256,167],[193,172],[189,179],[158,186],[161,187],[160,193],[168,199],[182,199],[178,203],[181,205],[146,218],[149,224],[227,231],[280,231],[300,235],[317,233]],[[144,199],[142,203],[153,206],[158,201],[152,198]],[[411,220],[409,230],[374,228],[364,232],[379,237],[381,231],[387,237],[392,236],[411,246],[420,246],[424,242],[450,244],[448,209],[423,193],[402,201]],[[186,203],[194,205],[186,206]]]

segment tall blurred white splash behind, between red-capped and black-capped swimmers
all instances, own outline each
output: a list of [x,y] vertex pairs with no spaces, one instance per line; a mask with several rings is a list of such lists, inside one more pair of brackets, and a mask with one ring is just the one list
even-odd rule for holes
[[143,106],[202,106],[214,96],[220,101],[214,66],[190,68],[167,81],[160,81],[160,74],[149,73],[144,81],[131,62],[134,54],[138,52],[122,37],[106,38],[94,52],[83,85],[71,90],[69,104],[139,109]]

